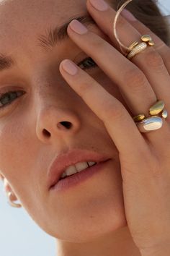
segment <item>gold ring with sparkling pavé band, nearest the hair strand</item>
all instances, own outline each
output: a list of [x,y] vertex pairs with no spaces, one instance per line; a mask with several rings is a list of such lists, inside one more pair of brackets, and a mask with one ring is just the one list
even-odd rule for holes
[[125,54],[126,58],[132,59],[133,56],[135,56],[136,54],[139,54],[140,51],[145,50],[147,46],[155,45],[150,35],[142,35],[141,40],[142,40],[142,43],[138,43],[138,41],[135,41],[129,46],[128,51]]

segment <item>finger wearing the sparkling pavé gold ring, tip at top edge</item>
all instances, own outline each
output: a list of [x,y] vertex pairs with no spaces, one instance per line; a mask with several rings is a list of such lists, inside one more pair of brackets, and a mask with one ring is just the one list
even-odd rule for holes
[[[97,1],[95,2],[97,3]],[[113,33],[113,23],[116,14],[115,10],[108,5],[108,9],[105,11],[98,11],[96,7],[91,5],[90,1],[87,1],[86,6],[95,22],[97,22],[97,25],[99,25],[104,33],[109,36],[114,43],[114,46],[120,51],[120,46]],[[127,47],[135,40],[138,40],[139,42],[141,41],[141,33],[121,15],[117,20],[117,31],[120,41]],[[137,54],[131,60],[146,75],[148,82],[150,82],[150,85],[156,94],[156,98],[164,100],[166,102],[166,107],[168,106],[168,110],[170,110],[169,72],[167,71],[160,54],[158,54],[153,46],[148,46],[146,50],[140,52],[140,54]],[[141,95],[141,97],[143,96]]]

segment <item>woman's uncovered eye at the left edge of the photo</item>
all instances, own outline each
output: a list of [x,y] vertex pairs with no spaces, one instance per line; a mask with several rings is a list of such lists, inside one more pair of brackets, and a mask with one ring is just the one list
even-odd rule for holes
[[[6,107],[7,105],[11,105],[12,101],[19,96],[23,95],[23,91],[9,91],[0,95],[0,109]],[[16,97],[18,96],[18,97]],[[10,102],[11,101],[11,102]]]

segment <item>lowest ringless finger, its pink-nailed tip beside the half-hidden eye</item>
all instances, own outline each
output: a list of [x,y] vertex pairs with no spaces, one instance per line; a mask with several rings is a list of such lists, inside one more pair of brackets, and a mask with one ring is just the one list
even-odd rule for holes
[[67,63],[68,60],[61,62],[60,72],[62,76],[94,111],[94,114],[104,122],[117,150],[128,158],[136,159],[137,156],[139,157],[141,151],[144,152],[147,149],[147,145],[126,108],[72,61],[71,70],[74,73],[69,74],[70,71],[66,69]]

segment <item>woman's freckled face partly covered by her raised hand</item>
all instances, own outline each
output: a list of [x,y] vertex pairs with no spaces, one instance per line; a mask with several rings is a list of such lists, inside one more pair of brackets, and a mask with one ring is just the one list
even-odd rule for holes
[[[84,14],[85,0],[6,0],[0,6],[0,52],[14,59],[12,67],[2,69],[0,64],[0,93],[24,93],[14,94],[13,101],[0,101],[0,106],[11,103],[0,108],[1,174],[45,232],[70,242],[86,242],[126,225],[115,144],[103,122],[59,72],[63,59],[79,63],[89,56],[70,38],[51,40],[49,46],[42,36]],[[109,41],[97,25],[89,29]],[[117,86],[99,67],[85,71],[125,106]],[[69,121],[72,128],[66,129],[62,121]],[[112,161],[76,187],[49,191],[50,164],[72,148],[94,150]]]

